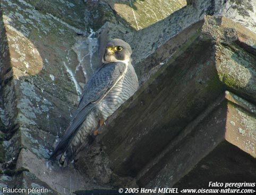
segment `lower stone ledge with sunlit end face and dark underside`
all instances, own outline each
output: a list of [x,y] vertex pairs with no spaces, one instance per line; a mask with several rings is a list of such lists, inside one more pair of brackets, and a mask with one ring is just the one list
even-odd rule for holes
[[[147,188],[172,187],[179,181],[178,186],[190,186],[189,180],[184,179],[186,183],[181,184],[183,180],[180,181],[180,179],[189,173],[195,165],[197,165],[194,168],[197,169],[197,174],[201,174],[201,179],[204,178],[205,180],[203,183],[200,183],[200,180],[197,181],[202,185],[205,185],[210,180],[235,182],[239,174],[243,175],[240,179],[244,179],[244,181],[249,182],[253,178],[255,179],[256,161],[254,158],[256,155],[254,143],[256,115],[255,111],[253,111],[255,106],[228,91],[225,93],[225,98],[223,98],[223,95],[221,96],[215,103],[209,105],[205,112],[187,125],[183,132],[163,152],[143,168],[137,176],[140,185]],[[233,102],[233,99],[240,99],[241,103],[239,100]],[[244,103],[249,105],[250,108],[243,106]],[[240,113],[237,114],[238,112]],[[240,120],[234,122],[234,118],[239,118]],[[243,120],[246,120],[246,123]],[[239,133],[241,129],[244,131],[243,134]],[[238,154],[229,151],[232,148],[238,151]],[[225,151],[229,151],[229,153]],[[234,163],[232,160],[228,160],[227,157],[221,159],[223,155],[233,156],[233,159],[236,159],[238,162],[246,162],[246,165],[243,165],[246,166],[246,171],[242,169],[241,162]],[[200,162],[201,160],[202,162]],[[226,165],[221,167],[218,162]],[[203,171],[199,172],[200,165],[206,165],[204,167],[211,165],[212,169],[209,168],[208,172],[214,176],[209,177]],[[236,170],[234,165],[243,171]],[[221,169],[218,170],[219,167]],[[193,174],[193,172],[190,174]],[[225,175],[225,177],[221,178],[221,175]],[[194,182],[196,183],[196,181]],[[195,187],[199,187],[200,184],[195,185]]]

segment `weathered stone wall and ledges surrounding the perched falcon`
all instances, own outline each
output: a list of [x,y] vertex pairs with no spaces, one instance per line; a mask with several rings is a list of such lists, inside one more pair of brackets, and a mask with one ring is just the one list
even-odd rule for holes
[[[1,187],[180,188],[195,173],[218,181],[221,151],[237,150],[241,163],[221,167],[255,179],[255,4],[153,2],[0,0]],[[140,90],[59,168],[47,159],[109,37],[131,44]],[[250,169],[234,172],[242,162]]]

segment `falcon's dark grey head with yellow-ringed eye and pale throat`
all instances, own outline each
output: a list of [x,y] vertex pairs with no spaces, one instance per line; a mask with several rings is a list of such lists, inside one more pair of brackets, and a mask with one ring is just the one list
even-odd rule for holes
[[132,49],[128,43],[121,39],[112,39],[107,42],[103,62],[129,62],[131,61],[131,54]]

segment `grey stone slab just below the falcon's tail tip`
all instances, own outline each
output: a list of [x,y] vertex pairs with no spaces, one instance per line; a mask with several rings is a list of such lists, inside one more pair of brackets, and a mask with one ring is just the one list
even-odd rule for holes
[[[37,162],[32,163],[32,162]],[[40,168],[39,165],[40,164]],[[41,182],[46,183],[50,189],[60,194],[73,193],[77,190],[103,188],[93,184],[87,177],[74,168],[61,168],[57,164],[38,157],[27,149],[22,149],[17,161],[16,169],[27,169]],[[43,185],[46,187],[45,185]],[[106,189],[108,189],[106,187]]]

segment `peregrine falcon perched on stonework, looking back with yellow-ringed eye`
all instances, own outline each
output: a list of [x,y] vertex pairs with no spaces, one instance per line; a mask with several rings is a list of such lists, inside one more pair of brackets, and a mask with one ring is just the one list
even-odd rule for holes
[[130,45],[123,40],[107,42],[103,64],[84,86],[78,109],[50,159],[61,154],[59,165],[69,164],[89,145],[89,135],[97,135],[105,120],[139,88],[131,54]]

